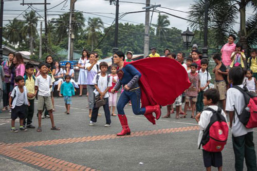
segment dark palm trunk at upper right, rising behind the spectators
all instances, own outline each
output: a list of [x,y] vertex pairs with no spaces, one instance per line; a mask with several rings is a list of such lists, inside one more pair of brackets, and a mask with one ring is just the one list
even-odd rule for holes
[[247,2],[245,0],[241,0],[241,4],[240,4],[240,43],[243,46],[243,49],[245,50],[245,54],[247,55],[248,52],[248,45],[247,45],[247,32],[246,32],[246,17],[245,17],[245,13],[246,13],[246,5]]

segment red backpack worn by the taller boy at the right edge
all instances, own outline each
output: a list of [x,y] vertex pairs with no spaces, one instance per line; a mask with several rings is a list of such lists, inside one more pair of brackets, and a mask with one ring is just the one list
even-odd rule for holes
[[[254,93],[251,93],[248,91],[248,89],[244,86],[243,88],[239,86],[233,86],[233,88],[239,90],[243,93],[244,99],[245,99],[245,106],[241,113],[241,115],[238,115],[238,112],[236,111],[235,107],[235,113],[242,122],[246,128],[255,128],[257,127],[257,96]],[[235,119],[234,119],[235,122]]]

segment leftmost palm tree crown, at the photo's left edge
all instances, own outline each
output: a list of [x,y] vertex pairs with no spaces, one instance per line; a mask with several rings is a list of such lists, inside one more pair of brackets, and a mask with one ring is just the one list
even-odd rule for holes
[[4,27],[3,37],[8,40],[12,46],[17,44],[21,44],[22,42],[22,28],[24,23],[14,18],[12,21],[9,21],[7,25]]

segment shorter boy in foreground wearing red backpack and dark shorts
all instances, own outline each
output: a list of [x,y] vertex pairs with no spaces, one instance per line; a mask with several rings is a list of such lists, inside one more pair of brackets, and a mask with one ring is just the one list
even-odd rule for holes
[[199,125],[198,147],[203,149],[206,170],[211,166],[222,170],[222,150],[228,139],[228,124],[225,112],[217,106],[219,93],[211,88],[204,92],[207,109],[198,113],[195,120]]

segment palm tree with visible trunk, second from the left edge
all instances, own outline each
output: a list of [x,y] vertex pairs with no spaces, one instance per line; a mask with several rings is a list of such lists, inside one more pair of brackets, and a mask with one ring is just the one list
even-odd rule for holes
[[38,16],[35,15],[34,11],[26,12],[23,17],[26,20],[26,23],[23,27],[24,36],[29,37],[29,45],[30,45],[30,55],[33,54],[33,42],[35,40],[35,36],[38,34],[36,31],[36,27],[38,26]]

